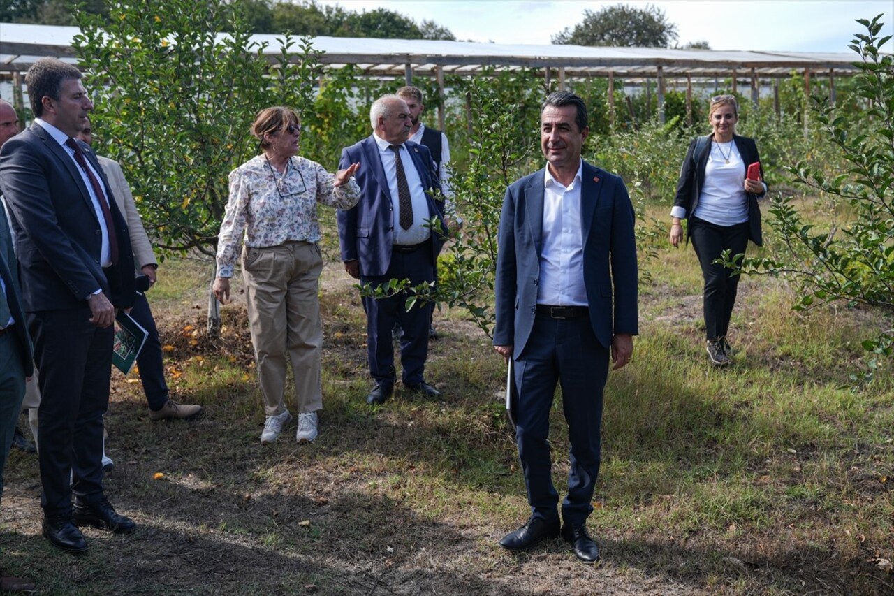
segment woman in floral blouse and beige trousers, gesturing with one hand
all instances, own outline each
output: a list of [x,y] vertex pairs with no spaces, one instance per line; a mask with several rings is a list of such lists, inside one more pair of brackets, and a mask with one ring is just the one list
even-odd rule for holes
[[300,123],[289,107],[258,112],[251,133],[260,140],[261,155],[230,173],[213,290],[217,300],[229,302],[233,262],[244,233],[242,277],[266,414],[261,442],[276,440],[291,421],[284,403],[288,353],[298,402],[296,438],[304,443],[316,438],[316,411],[323,408],[317,297],[323,259],[316,203],[336,209],[356,205],[360,189],[351,176],[359,164],[333,175],[299,157]]

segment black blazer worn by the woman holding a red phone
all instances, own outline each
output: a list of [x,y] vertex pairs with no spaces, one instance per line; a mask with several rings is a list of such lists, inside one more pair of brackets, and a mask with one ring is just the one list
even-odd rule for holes
[[[711,137],[712,135],[708,135]],[[677,196],[674,198],[674,207],[682,207],[686,209],[686,217],[691,217],[692,212],[696,210],[698,205],[698,197],[702,192],[704,184],[704,166],[708,163],[708,155],[711,153],[711,140],[704,143],[704,147],[699,155],[693,156],[696,151],[696,145],[699,138],[707,139],[707,137],[696,137],[689,143],[689,149],[686,152],[686,158],[683,159],[683,166],[679,170],[679,182],[677,183]],[[761,161],[757,154],[757,145],[754,139],[748,137],[740,137],[738,134],[732,135],[732,140],[736,143],[736,149],[742,156],[742,167],[747,168],[748,164],[755,161]],[[743,172],[744,175],[744,172]],[[761,179],[763,183],[763,163],[761,163]],[[761,194],[748,192],[748,239],[761,246],[763,244],[763,234],[761,233],[761,209],[757,205],[758,197],[763,197],[766,191]],[[687,237],[689,230],[687,229]]]

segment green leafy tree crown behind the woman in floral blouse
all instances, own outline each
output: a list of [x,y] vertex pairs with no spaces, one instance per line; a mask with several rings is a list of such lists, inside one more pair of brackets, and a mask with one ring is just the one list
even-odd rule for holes
[[[121,162],[162,251],[214,255],[227,175],[257,153],[249,125],[266,106],[311,105],[316,55],[301,44],[271,67],[224,0],[120,2],[110,20],[80,13],[74,47],[94,94],[100,154]],[[232,34],[213,31],[232,23]]]

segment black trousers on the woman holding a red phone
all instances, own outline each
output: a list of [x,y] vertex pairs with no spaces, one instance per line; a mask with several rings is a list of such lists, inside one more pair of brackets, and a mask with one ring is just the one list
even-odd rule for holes
[[723,251],[730,251],[731,255],[745,252],[748,223],[717,226],[689,217],[689,237],[704,277],[704,333],[708,341],[716,341],[725,337],[730,328],[739,276],[730,277],[732,269],[712,261],[720,259]]

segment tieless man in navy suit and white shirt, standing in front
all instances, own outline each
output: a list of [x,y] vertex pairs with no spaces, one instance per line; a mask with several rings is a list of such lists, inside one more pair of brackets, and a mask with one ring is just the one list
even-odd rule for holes
[[610,356],[617,370],[633,354],[637,246],[624,183],[580,158],[588,134],[583,100],[564,91],[546,98],[547,166],[513,183],[503,201],[493,345],[513,360],[516,441],[531,506],[527,523],[500,545],[529,549],[560,533],[548,435],[561,381],[571,445],[561,536],[592,563],[599,549],[586,518],[599,473],[603,387]]

